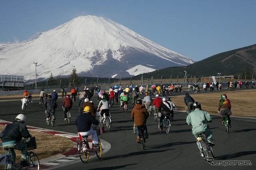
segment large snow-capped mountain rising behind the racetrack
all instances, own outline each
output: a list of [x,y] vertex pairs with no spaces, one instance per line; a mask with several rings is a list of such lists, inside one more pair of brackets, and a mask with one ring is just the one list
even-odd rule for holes
[[0,73],[26,81],[56,76],[132,77],[192,59],[154,43],[107,18],[80,16],[26,43],[0,44]]

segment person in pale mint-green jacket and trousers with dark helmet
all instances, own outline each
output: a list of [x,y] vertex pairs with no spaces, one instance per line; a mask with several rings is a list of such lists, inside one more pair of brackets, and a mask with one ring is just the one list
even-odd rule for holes
[[[212,143],[212,132],[210,131],[208,125],[206,125],[207,121],[212,121],[212,117],[206,111],[201,110],[201,105],[199,102],[193,103],[193,109],[194,111],[188,114],[186,119],[187,124],[192,126],[192,134],[194,134],[195,138],[197,139],[197,133],[204,132],[204,134],[207,136],[209,146],[214,146],[215,144]],[[196,144],[200,150],[198,140],[196,140]],[[201,156],[204,156],[203,153],[201,153]]]

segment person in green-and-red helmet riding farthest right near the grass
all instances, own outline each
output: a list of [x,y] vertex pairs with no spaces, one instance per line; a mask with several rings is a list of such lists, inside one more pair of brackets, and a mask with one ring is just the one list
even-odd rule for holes
[[218,112],[220,113],[220,116],[222,117],[222,125],[224,125],[225,116],[228,117],[228,125],[229,128],[231,128],[231,121],[230,121],[230,115],[232,115],[231,109],[231,103],[227,99],[227,95],[223,94],[220,96],[220,103],[218,107]]

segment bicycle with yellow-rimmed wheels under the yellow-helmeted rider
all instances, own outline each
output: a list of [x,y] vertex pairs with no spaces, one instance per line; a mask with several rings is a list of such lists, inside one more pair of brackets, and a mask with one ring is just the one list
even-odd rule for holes
[[84,135],[82,136],[83,140],[81,139],[77,139],[77,148],[78,148],[78,154],[76,154],[77,156],[79,155],[80,160],[83,163],[86,163],[89,159],[89,154],[93,154],[93,152],[95,151],[97,157],[100,159],[102,157],[102,146],[100,144],[100,139],[98,138],[98,146],[96,148],[94,148],[94,145],[92,144],[92,148],[90,148],[89,146],[89,142],[88,142],[88,135]]

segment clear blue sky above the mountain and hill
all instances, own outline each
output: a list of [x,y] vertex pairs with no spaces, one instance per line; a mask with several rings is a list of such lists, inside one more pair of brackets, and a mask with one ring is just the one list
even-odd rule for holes
[[0,43],[94,15],[200,61],[256,44],[255,7],[256,0],[1,0]]

